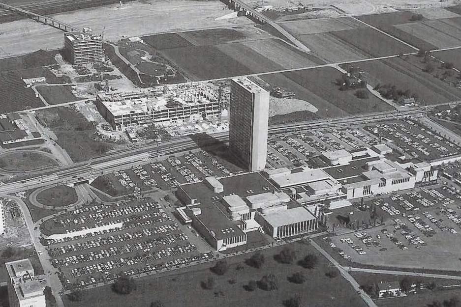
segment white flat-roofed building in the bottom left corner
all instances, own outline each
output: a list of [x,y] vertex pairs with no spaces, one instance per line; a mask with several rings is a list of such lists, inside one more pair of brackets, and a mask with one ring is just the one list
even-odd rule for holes
[[45,307],[43,287],[35,275],[29,259],[6,262],[10,307]]

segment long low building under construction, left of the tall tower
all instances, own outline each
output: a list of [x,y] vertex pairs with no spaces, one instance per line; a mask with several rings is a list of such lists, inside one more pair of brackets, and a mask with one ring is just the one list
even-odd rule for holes
[[99,93],[96,107],[114,130],[131,125],[168,125],[219,115],[219,93],[205,84],[181,84],[136,92]]

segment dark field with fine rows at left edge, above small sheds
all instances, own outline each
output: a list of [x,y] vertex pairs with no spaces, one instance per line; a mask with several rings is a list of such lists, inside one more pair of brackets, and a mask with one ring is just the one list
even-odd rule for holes
[[1,114],[44,106],[43,102],[35,97],[33,90],[26,88],[19,74],[15,72],[0,74],[0,97]]

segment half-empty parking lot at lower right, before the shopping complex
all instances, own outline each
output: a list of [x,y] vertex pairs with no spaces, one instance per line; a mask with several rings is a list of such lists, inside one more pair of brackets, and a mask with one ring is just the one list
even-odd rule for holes
[[[447,187],[415,189],[368,202],[384,225],[325,238],[342,263],[457,270],[461,267],[461,195]],[[390,265],[391,264],[391,265]]]

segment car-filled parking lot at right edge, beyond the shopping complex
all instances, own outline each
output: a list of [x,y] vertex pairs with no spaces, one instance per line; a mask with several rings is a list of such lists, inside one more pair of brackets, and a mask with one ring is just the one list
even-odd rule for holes
[[378,138],[392,140],[409,158],[430,161],[461,152],[458,145],[411,118],[366,126],[365,130]]

